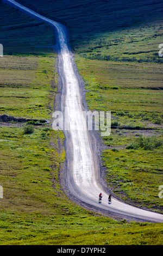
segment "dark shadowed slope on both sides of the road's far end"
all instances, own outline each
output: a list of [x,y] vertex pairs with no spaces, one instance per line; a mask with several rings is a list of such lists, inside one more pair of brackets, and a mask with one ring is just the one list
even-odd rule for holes
[[[162,18],[161,9],[163,8],[163,3],[160,0],[18,0],[18,2],[66,25],[70,31],[71,46],[75,51],[80,47],[87,47],[88,42],[105,36],[105,33],[158,22]],[[24,51],[37,52],[38,49],[32,50],[33,46],[54,44],[51,28],[4,3],[0,3],[0,5],[0,40],[4,44],[4,49],[9,51],[9,48],[12,50],[15,47],[16,51],[16,47],[24,47]]]

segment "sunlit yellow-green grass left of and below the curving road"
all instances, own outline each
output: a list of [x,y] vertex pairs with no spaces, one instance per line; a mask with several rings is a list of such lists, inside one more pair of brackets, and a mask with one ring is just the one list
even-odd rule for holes
[[[54,58],[50,59],[51,61],[49,57],[41,56],[4,57],[1,72],[4,77],[8,77],[8,72],[12,71],[15,79],[8,88],[2,77],[1,99],[5,106],[2,113],[51,120],[52,112],[49,109],[52,109],[49,106],[57,92],[53,78],[55,73],[52,72]],[[40,73],[42,62],[45,64],[43,68],[46,68],[46,73]],[[17,71],[20,63],[23,72]],[[26,71],[30,76],[27,83],[24,83]],[[21,86],[20,80],[23,81]],[[15,88],[17,84],[19,86]],[[14,103],[16,109],[10,110],[15,97],[23,102],[24,109]],[[34,104],[33,102],[39,103],[41,106],[32,106],[35,110],[39,107],[40,111],[31,113],[32,107],[28,109],[24,100],[28,102],[27,106]],[[65,160],[62,132],[54,132],[49,123],[35,124],[27,133],[26,127],[30,125],[1,123],[0,184],[4,190],[4,198],[0,200],[1,245],[161,244],[162,224],[112,220],[87,211],[68,200],[59,182]]]

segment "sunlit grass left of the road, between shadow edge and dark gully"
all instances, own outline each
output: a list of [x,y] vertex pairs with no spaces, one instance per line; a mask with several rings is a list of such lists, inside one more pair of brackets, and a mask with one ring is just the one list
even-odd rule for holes
[[[4,56],[0,63],[0,74],[2,114],[51,119],[49,114],[53,109],[53,94],[57,90],[54,86],[57,82],[54,56]],[[50,91],[52,97],[48,95]]]

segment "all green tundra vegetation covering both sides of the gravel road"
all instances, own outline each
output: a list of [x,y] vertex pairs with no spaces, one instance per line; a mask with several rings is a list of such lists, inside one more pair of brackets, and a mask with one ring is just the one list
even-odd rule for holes
[[[161,1],[18,2],[68,27],[87,106],[111,111],[101,157],[112,193],[162,212]],[[38,120],[1,122],[0,244],[162,245],[162,223],[113,219],[67,198],[64,134],[52,129],[60,93],[54,33],[0,5],[0,115]]]

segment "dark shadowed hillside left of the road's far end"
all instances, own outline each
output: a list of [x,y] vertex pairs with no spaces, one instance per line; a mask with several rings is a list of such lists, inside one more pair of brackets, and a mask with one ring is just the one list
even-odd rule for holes
[[42,48],[42,46],[55,44],[51,27],[30,18],[7,4],[1,2],[0,6],[0,41],[3,44],[5,55],[52,53],[51,48]]

